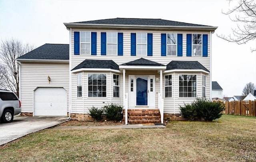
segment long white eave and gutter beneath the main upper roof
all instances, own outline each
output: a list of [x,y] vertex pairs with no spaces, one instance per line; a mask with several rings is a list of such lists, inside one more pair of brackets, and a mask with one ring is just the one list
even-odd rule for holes
[[100,28],[100,29],[150,29],[150,30],[201,30],[214,31],[216,26],[158,26],[158,25],[118,25],[118,24],[84,24],[64,23],[67,29],[70,28]]

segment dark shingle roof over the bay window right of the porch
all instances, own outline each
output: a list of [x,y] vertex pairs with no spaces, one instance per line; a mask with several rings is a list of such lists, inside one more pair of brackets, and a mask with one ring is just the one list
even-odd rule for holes
[[210,72],[198,61],[171,61],[169,64],[166,65],[166,70],[174,69],[202,69],[207,72]]

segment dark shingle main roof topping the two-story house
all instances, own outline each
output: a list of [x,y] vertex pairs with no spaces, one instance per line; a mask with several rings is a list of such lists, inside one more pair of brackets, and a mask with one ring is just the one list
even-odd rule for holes
[[151,18],[110,18],[103,20],[92,20],[83,22],[74,22],[81,24],[118,24],[118,25],[156,25],[156,26],[206,26],[200,24],[190,24],[163,19]]

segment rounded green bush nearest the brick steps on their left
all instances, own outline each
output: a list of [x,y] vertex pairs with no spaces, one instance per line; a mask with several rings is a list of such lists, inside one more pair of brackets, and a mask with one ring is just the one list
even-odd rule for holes
[[104,106],[105,117],[109,120],[120,121],[123,119],[123,107],[118,104]]

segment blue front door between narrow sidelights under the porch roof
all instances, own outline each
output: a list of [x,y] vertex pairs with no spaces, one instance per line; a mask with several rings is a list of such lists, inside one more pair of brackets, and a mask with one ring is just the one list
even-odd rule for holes
[[136,78],[136,103],[137,105],[148,105],[148,78]]

